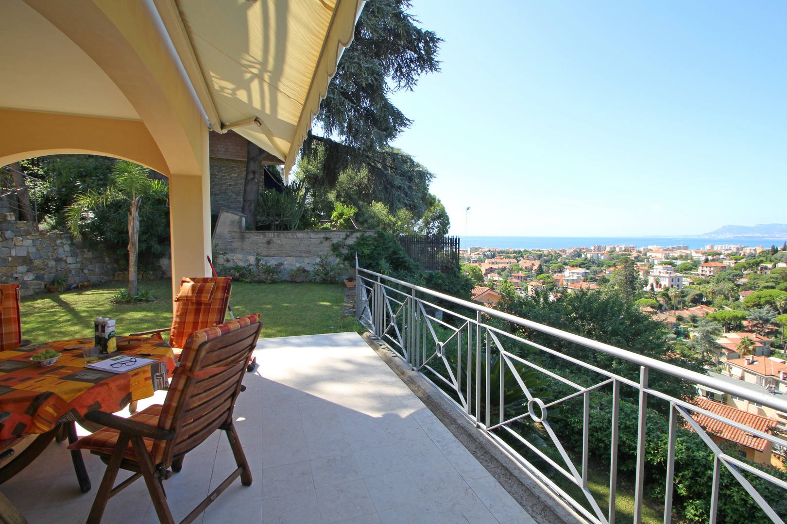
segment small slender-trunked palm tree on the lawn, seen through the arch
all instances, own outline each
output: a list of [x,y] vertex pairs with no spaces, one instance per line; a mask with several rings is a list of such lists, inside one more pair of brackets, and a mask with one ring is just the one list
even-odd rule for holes
[[148,178],[149,171],[139,164],[119,160],[112,168],[112,185],[102,191],[79,193],[66,209],[68,229],[76,240],[81,239],[79,227],[83,214],[113,202],[128,203],[128,294],[137,294],[137,255],[139,253],[139,207],[142,198],[163,199],[168,187],[160,180]]

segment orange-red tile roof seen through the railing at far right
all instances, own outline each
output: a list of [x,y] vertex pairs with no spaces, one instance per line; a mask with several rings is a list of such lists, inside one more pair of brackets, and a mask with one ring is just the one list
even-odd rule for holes
[[[723,416],[733,422],[745,424],[748,427],[753,427],[756,430],[763,431],[763,433],[770,433],[776,427],[777,421],[769,419],[767,416],[759,416],[742,409],[733,408],[731,405],[722,404],[720,402],[711,401],[707,398],[696,397],[694,404],[706,411],[714,413],[715,415]],[[700,426],[704,427],[708,432],[715,434],[725,440],[736,442],[737,444],[744,445],[747,448],[756,449],[757,451],[765,451],[768,441],[764,438],[757,438],[751,433],[739,430],[737,427],[732,427],[730,424],[719,422],[719,420],[711,419],[707,415],[701,413],[692,413],[692,418],[696,420]]]

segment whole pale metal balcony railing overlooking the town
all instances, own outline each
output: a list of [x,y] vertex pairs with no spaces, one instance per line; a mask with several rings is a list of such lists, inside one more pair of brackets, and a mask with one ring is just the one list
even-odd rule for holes
[[[741,448],[706,431],[695,417],[704,420],[706,425],[707,419],[701,416],[741,430],[751,438],[765,439],[774,449],[784,449],[780,446],[787,446],[787,441],[779,435],[701,409],[688,395],[666,394],[657,389],[660,386],[656,384],[699,385],[784,413],[787,413],[787,401],[368,269],[357,267],[357,281],[357,317],[372,335],[415,372],[430,380],[479,431],[507,449],[523,467],[537,475],[590,522],[614,523],[616,500],[623,496],[623,489],[627,489],[629,506],[633,498],[634,524],[642,522],[646,497],[649,508],[652,510],[655,505],[659,512],[663,501],[663,522],[670,524],[674,498],[679,497],[673,491],[674,480],[678,478],[676,475],[684,475],[684,478],[689,475],[680,469],[676,471],[676,467],[685,466],[685,461],[675,460],[678,432],[695,438],[689,433],[693,432],[707,446],[704,451],[708,452],[708,462],[702,467],[708,474],[712,468],[707,482],[711,489],[701,520],[710,524],[717,522],[722,468],[729,471],[772,522],[782,523],[787,515],[787,508],[781,502],[787,494],[782,491],[787,489],[784,480],[787,477],[774,475],[776,469],[758,467],[745,460],[736,452]],[[572,357],[554,347],[508,332],[515,331],[512,327],[517,326],[525,328],[526,332],[549,335],[563,345],[572,343],[574,347],[584,348],[588,357]],[[602,368],[590,363],[594,360],[591,356],[605,356],[605,361],[611,364]],[[576,374],[582,379],[575,379],[574,374],[567,371],[571,369],[582,370]],[[622,420],[623,401],[632,407]],[[599,405],[604,402],[611,410],[604,430],[608,431],[608,448],[591,449],[591,417],[593,428],[596,428],[593,431],[597,431]],[[581,435],[556,431],[561,420],[580,416],[580,412]],[[620,440],[624,425],[632,428],[630,432],[634,431],[631,426],[634,414],[635,447],[631,442]],[[664,484],[659,486],[663,486],[663,492],[656,503],[653,493],[646,496],[646,481],[652,479],[646,477],[646,470],[653,468],[646,462],[646,439],[654,438],[653,430],[648,429],[648,417],[652,422],[656,422],[657,417],[662,418],[663,430],[656,437],[668,435],[666,458],[660,464]],[[621,471],[619,475],[619,456],[626,446],[629,450],[628,473],[624,475]],[[767,453],[770,456],[770,448]],[[599,456],[604,456],[605,460],[601,461]],[[632,458],[635,466],[631,463]],[[598,476],[591,480],[591,471],[599,468],[603,468],[601,481],[598,482]],[[696,480],[704,482],[700,478]],[[634,484],[633,493],[630,487],[626,488],[630,484]],[[599,489],[599,485],[604,489]],[[776,497],[774,489],[778,493]],[[740,496],[741,489],[737,492]],[[758,513],[753,505],[751,509],[750,516]],[[752,516],[750,522],[754,519]]]

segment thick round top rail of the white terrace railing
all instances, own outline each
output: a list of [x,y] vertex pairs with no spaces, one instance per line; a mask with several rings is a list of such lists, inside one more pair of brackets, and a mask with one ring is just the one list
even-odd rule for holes
[[715,390],[721,390],[726,393],[733,394],[736,397],[745,398],[748,401],[756,402],[762,405],[767,405],[769,408],[773,408],[778,411],[787,413],[787,401],[785,400],[781,400],[779,398],[775,398],[774,396],[768,394],[763,394],[757,391],[750,390],[747,387],[726,383],[723,382],[722,380],[715,379],[711,376],[702,375],[700,373],[690,371],[689,369],[684,369],[676,365],[668,364],[667,362],[663,362],[655,358],[645,357],[644,355],[634,353],[633,351],[621,350],[618,347],[610,346],[609,344],[601,343],[598,342],[597,340],[586,339],[581,335],[575,335],[574,333],[564,332],[563,330],[557,328],[551,328],[544,324],[538,324],[538,322],[528,321],[521,317],[515,317],[512,314],[503,313],[502,311],[498,311],[498,310],[493,310],[490,307],[483,306],[482,304],[478,304],[476,302],[468,302],[467,300],[457,299],[456,297],[453,297],[451,295],[445,295],[445,293],[441,293],[439,291],[434,291],[429,288],[422,288],[421,286],[416,286],[415,284],[410,284],[409,282],[405,282],[405,280],[398,280],[396,278],[383,275],[382,273],[375,273],[375,271],[371,271],[370,269],[364,269],[358,266],[357,256],[356,256],[357,277],[361,277],[360,272],[368,273],[369,275],[374,277],[383,278],[395,284],[405,286],[406,288],[419,291],[420,293],[445,300],[446,302],[452,302],[457,306],[463,306],[470,310],[486,313],[487,315],[490,315],[490,317],[497,317],[500,318],[501,320],[512,322],[513,324],[519,324],[525,328],[530,328],[537,332],[545,333],[547,335],[552,335],[559,339],[567,340],[568,342],[572,342],[580,346],[585,346],[592,350],[597,350],[602,353],[609,354],[613,357],[618,357],[625,361],[630,361],[633,362],[634,364],[645,366],[647,368],[656,370],[658,372],[666,373],[667,375],[671,375],[679,379],[688,380],[689,382],[700,384],[701,386],[711,387]]

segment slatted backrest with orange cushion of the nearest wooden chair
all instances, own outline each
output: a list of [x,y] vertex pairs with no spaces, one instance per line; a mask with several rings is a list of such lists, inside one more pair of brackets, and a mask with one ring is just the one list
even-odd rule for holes
[[261,328],[259,315],[248,315],[189,336],[159,418],[159,427],[175,432],[158,444],[165,464],[231,422]]

